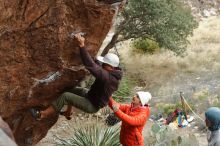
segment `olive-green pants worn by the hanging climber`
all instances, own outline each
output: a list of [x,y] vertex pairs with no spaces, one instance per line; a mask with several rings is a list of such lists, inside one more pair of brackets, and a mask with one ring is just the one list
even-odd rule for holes
[[87,113],[96,113],[99,108],[96,108],[87,99],[88,89],[77,87],[71,92],[65,92],[59,96],[53,103],[52,106],[57,112],[60,112],[64,105],[72,105]]

